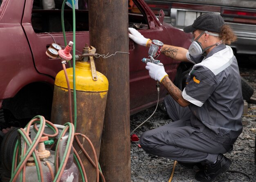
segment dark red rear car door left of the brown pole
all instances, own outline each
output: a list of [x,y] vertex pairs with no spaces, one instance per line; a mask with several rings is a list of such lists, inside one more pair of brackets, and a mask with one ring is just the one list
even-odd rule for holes
[[[62,48],[65,46],[61,28],[61,7],[43,9],[41,4],[36,4],[36,2],[38,1],[34,0],[33,4],[33,0],[26,0],[22,26],[27,35],[36,70],[55,78],[62,69],[61,60],[51,59],[45,52],[52,43],[59,44]],[[76,11],[76,50],[82,52],[85,43],[89,44],[88,11]],[[73,29],[72,9],[67,5],[65,5],[64,23],[68,43],[73,41]]]

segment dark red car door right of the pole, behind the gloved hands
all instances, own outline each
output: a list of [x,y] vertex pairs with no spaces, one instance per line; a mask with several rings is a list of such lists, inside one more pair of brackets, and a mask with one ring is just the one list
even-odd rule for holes
[[[151,40],[157,39],[165,44],[172,45],[167,29],[155,18],[153,12],[142,0],[134,0],[134,7],[129,11],[129,27],[137,29],[144,37]],[[131,39],[129,40],[130,52],[130,106],[131,114],[147,107],[156,105],[157,90],[156,81],[148,75],[141,59],[148,58],[148,48],[139,46]],[[160,55],[158,58],[163,64],[171,79],[174,79],[177,64],[173,64],[173,59]],[[162,101],[167,91],[161,87],[159,100]]]

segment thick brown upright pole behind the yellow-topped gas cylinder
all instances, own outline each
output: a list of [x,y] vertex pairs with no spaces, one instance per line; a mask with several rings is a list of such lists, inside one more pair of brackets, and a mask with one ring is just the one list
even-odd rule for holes
[[130,182],[128,0],[89,0],[90,45],[107,59],[95,60],[109,90],[99,163],[106,182]]

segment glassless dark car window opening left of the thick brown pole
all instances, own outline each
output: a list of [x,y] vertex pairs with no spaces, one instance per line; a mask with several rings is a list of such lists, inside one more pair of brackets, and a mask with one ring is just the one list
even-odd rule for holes
[[[34,0],[31,24],[36,33],[61,32],[61,7],[63,0]],[[76,10],[76,31],[89,31],[87,0],[79,0]],[[72,31],[72,8],[64,7],[65,31]]]

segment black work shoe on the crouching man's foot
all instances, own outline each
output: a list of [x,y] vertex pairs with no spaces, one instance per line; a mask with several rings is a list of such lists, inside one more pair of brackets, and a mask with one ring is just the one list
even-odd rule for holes
[[215,178],[224,173],[231,166],[231,160],[219,154],[215,164],[206,164],[205,169],[195,174],[195,179],[201,182],[213,182]]

